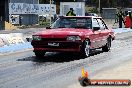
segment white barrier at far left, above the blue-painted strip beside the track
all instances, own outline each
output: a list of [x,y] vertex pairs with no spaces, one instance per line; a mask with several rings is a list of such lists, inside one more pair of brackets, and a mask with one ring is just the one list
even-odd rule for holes
[[0,38],[6,45],[25,43],[22,33],[0,34]]

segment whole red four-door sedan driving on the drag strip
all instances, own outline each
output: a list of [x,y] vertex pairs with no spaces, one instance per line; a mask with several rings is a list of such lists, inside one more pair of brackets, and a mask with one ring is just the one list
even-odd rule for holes
[[46,52],[77,52],[88,57],[92,49],[109,51],[114,38],[101,17],[62,16],[51,27],[34,34],[31,44],[37,57]]

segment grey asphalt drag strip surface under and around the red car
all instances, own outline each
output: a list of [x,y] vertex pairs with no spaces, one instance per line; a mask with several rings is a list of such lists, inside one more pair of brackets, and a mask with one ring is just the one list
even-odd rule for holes
[[92,78],[132,57],[132,32],[116,35],[109,52],[96,50],[88,58],[70,53],[47,53],[36,58],[32,50],[0,55],[0,88],[68,88],[78,82],[81,68]]

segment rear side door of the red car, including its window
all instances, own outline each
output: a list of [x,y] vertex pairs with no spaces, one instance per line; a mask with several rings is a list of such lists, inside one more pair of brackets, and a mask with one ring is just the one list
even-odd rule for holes
[[104,46],[107,43],[107,38],[109,36],[109,30],[104,23],[104,21],[101,18],[97,19],[99,26],[100,26],[100,33],[99,33],[99,38],[100,38],[100,46]]

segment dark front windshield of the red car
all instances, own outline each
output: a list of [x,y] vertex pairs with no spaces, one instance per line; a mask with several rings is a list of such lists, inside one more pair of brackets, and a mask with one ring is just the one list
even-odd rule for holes
[[59,18],[51,28],[92,28],[91,18]]

